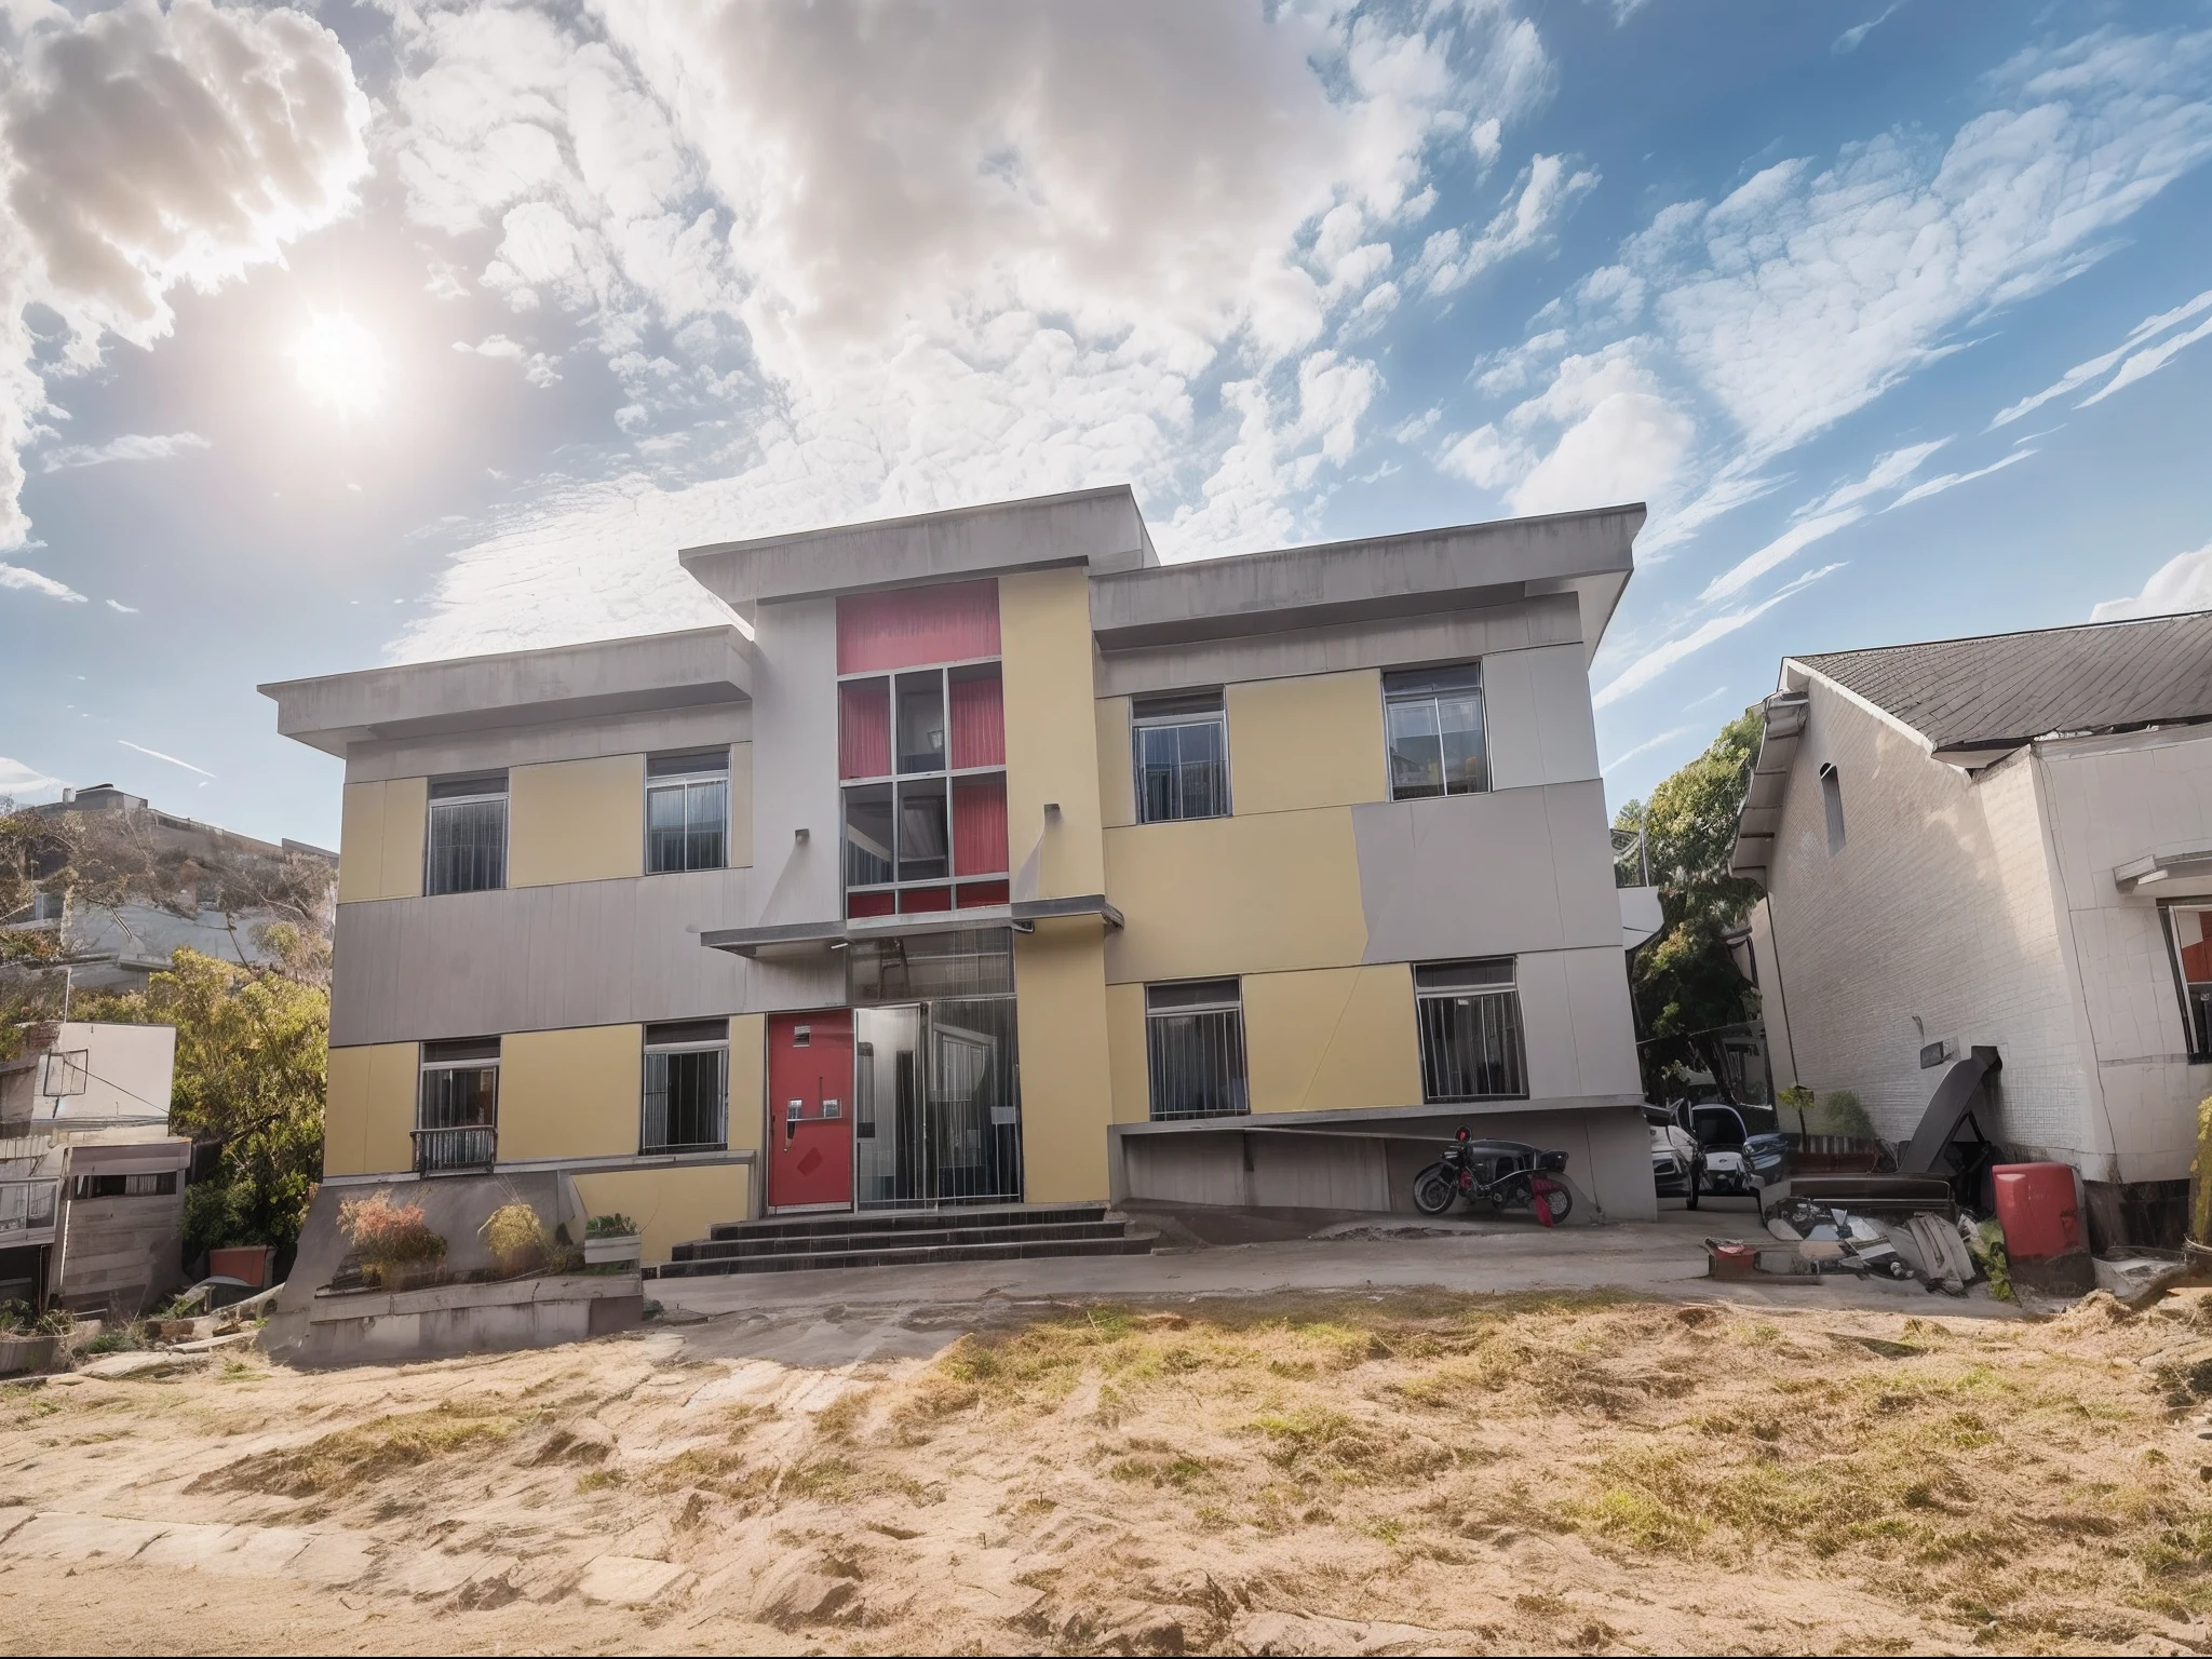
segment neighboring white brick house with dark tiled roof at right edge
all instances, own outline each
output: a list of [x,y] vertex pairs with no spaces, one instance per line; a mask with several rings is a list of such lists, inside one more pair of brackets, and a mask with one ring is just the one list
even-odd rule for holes
[[2099,1243],[2177,1237],[2212,1093],[2205,721],[2208,613],[1785,659],[1732,858],[1776,1079],[1907,1137],[1995,1046],[2006,1152],[2073,1164]]

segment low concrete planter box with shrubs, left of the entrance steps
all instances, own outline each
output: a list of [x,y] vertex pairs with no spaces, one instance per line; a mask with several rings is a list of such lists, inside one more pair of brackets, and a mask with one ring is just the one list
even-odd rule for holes
[[314,1294],[301,1365],[405,1365],[449,1354],[504,1354],[626,1332],[646,1316],[628,1274],[542,1274],[425,1290]]

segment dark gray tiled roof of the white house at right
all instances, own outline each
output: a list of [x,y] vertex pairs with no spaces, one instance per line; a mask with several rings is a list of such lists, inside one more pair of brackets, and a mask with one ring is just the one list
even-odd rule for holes
[[2212,719],[2212,611],[1794,661],[1896,714],[1936,750]]

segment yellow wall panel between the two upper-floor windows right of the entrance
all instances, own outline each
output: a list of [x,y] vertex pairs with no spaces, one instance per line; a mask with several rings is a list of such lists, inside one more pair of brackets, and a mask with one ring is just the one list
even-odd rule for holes
[[1389,799],[1376,670],[1250,679],[1228,688],[1228,712],[1239,814]]

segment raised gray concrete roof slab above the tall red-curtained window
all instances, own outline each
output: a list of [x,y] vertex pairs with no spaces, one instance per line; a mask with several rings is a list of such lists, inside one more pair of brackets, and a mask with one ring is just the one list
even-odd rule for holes
[[796,535],[690,546],[679,555],[710,593],[752,606],[865,588],[951,582],[964,575],[1088,564],[1093,571],[1157,564],[1128,484],[962,507],[947,513],[841,524]]

